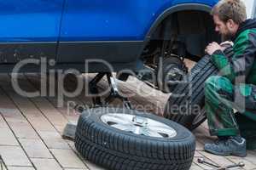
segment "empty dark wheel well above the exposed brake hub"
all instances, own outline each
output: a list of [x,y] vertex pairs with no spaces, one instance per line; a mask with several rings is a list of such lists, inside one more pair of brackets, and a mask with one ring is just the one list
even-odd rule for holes
[[193,60],[204,55],[204,49],[209,42],[220,40],[214,31],[212,16],[206,11],[199,10],[183,10],[168,14],[148,37],[147,53],[161,48],[162,42],[169,41],[173,43],[174,51],[177,52],[175,48],[183,48],[186,58]]

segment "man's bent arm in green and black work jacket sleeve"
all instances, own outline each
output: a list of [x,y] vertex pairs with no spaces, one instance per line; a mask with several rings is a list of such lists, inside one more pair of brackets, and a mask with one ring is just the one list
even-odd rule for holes
[[218,67],[220,73],[235,81],[236,77],[249,74],[256,52],[256,37],[250,33],[244,33],[237,38],[234,46],[234,55],[227,58],[221,50],[217,50],[212,54],[212,62]]

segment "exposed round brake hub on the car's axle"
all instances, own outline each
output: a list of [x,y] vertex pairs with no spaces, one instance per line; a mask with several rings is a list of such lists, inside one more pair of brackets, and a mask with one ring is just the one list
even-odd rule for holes
[[161,71],[159,88],[163,93],[171,93],[177,86],[176,82],[181,81],[187,74],[187,67],[177,56],[164,58],[160,67],[158,68],[158,71]]

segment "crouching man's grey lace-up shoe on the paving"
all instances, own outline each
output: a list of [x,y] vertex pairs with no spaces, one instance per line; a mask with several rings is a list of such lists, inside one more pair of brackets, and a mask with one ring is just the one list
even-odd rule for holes
[[218,156],[247,156],[246,139],[219,139],[214,144],[205,144],[205,150]]

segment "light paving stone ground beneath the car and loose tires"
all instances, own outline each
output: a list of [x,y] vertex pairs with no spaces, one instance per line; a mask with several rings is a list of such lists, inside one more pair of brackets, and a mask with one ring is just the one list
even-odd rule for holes
[[[79,78],[90,80],[92,77],[93,75],[86,74]],[[74,90],[76,88],[75,82],[73,77],[68,77],[65,81],[65,89]],[[73,141],[61,138],[67,122],[76,122],[79,118],[79,113],[70,109],[69,105],[71,103],[91,104],[91,99],[84,96],[84,90],[76,97],[64,97],[64,105],[60,106],[58,103],[59,95],[26,98],[17,94],[11,83],[10,75],[0,75],[0,154],[3,157],[3,169],[103,169],[84,160],[75,150]],[[36,92],[42,86],[50,86],[49,84],[41,84],[40,76],[37,74],[20,74],[19,84],[23,90],[30,92]],[[107,84],[106,80],[102,81],[100,87],[106,88]],[[49,88],[51,91],[55,91],[53,94],[57,94],[57,88]],[[138,106],[148,106],[146,107],[148,112],[162,115],[169,94],[160,93],[132,77],[129,78],[128,82],[119,82],[119,88],[124,94],[134,94],[130,98],[131,104],[138,110],[142,109]],[[113,105],[120,105],[120,103],[114,102]],[[207,122],[195,129],[193,133],[197,140],[195,159],[191,169],[211,169],[211,167],[197,162],[200,157],[219,166],[244,161],[246,166],[242,169],[256,169],[256,151],[253,150],[248,151],[245,158],[213,156],[204,152],[203,145],[214,139],[209,136]]]

